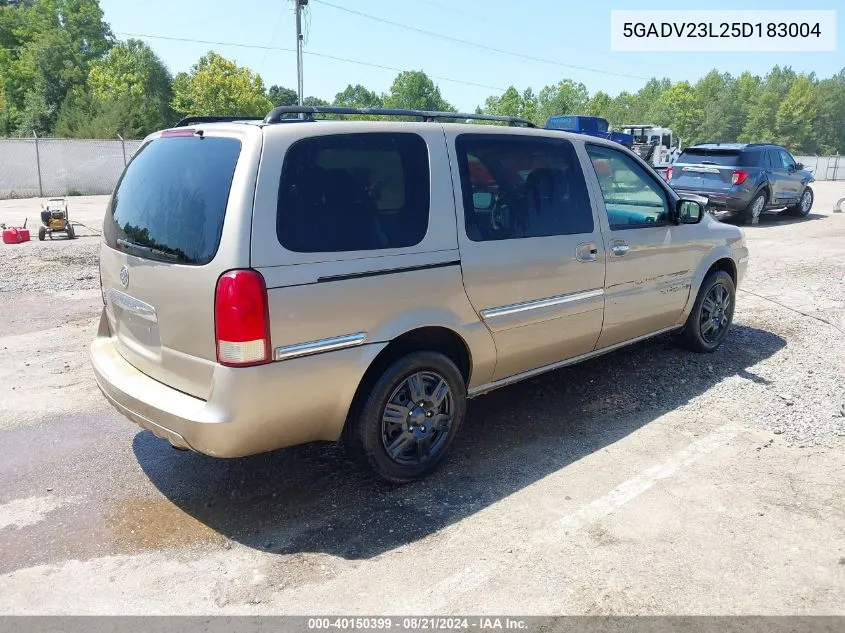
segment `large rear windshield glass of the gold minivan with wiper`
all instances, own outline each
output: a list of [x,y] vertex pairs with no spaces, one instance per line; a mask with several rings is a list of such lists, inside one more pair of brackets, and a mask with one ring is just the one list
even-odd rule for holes
[[103,234],[112,248],[178,264],[217,253],[241,143],[172,137],[142,147],[121,176]]

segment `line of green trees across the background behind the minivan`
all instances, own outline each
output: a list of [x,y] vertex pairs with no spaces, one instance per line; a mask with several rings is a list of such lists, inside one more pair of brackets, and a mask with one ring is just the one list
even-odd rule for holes
[[[98,0],[0,0],[0,135],[142,138],[186,115],[263,116],[296,92],[209,51],[173,76],[146,43],[117,41]],[[422,71],[399,73],[386,93],[348,85],[308,105],[455,112]],[[637,92],[590,94],[563,79],[538,92],[509,87],[476,112],[543,125],[593,114],[615,127],[670,127],[686,144],[777,142],[796,153],[845,153],[845,68],[833,77],[775,66],[764,77],[713,70],[698,82],[653,78]]]

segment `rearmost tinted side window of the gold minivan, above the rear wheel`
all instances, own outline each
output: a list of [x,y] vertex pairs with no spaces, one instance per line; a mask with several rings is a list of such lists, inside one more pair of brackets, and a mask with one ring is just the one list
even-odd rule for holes
[[276,231],[299,253],[405,248],[428,230],[425,141],[416,134],[338,134],[288,150]]

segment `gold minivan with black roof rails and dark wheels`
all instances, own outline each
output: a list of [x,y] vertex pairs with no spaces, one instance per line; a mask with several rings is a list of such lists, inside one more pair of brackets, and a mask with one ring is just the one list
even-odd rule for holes
[[624,147],[507,117],[315,114],[377,113],[186,119],[114,191],[91,362],[174,446],[343,438],[405,482],[467,398],[663,332],[724,340],[742,231]]

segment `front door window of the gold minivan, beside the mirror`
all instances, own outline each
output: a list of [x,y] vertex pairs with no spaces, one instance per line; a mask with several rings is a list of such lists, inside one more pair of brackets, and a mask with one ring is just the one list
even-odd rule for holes
[[647,228],[669,221],[666,192],[630,156],[587,145],[611,230]]

